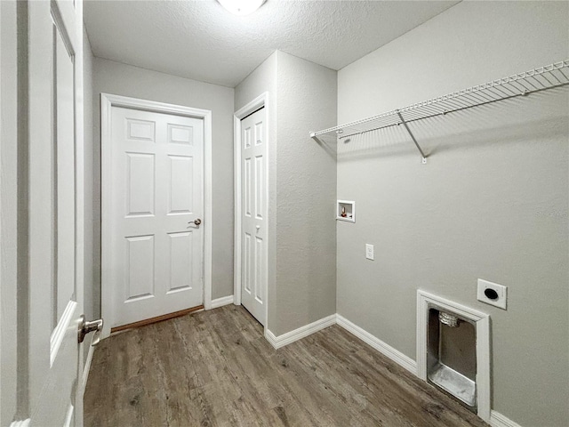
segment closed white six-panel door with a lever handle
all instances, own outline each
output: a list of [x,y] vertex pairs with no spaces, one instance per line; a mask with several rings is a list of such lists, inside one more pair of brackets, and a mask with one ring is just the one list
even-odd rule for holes
[[114,327],[203,303],[204,120],[121,107],[111,117]]

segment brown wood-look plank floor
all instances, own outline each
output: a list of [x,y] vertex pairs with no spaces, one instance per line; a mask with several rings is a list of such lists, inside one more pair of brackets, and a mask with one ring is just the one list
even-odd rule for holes
[[228,305],[100,342],[84,425],[487,424],[340,326],[274,350],[246,310]]

